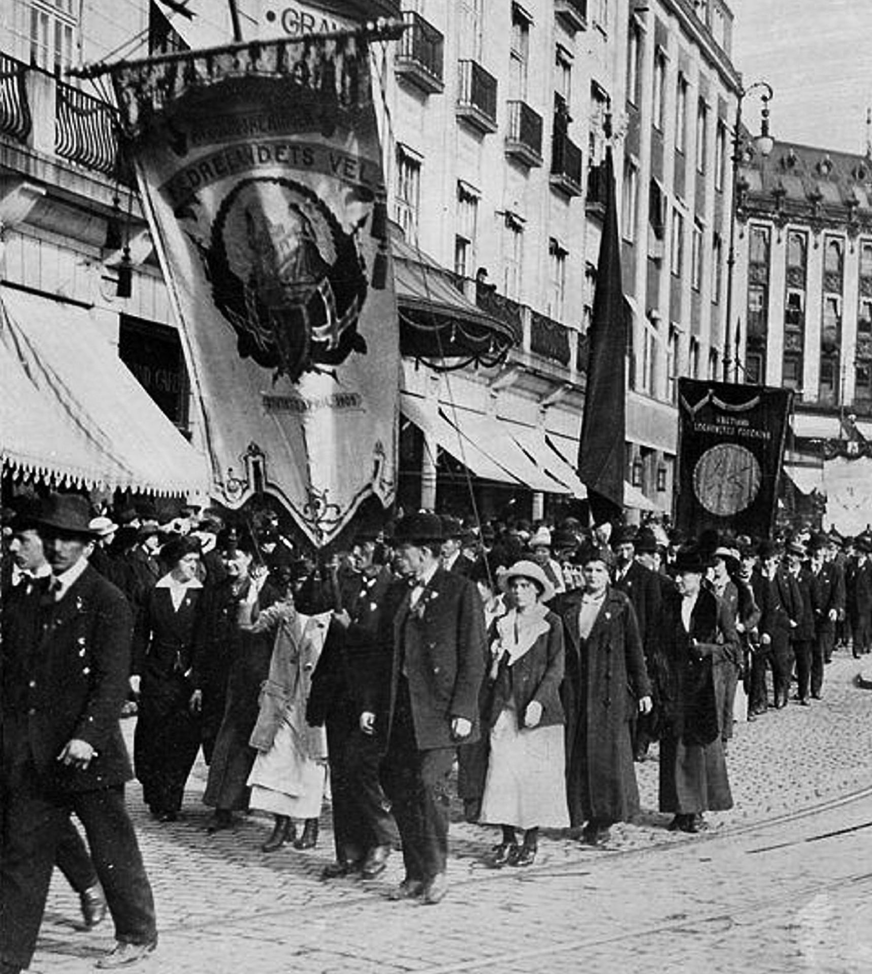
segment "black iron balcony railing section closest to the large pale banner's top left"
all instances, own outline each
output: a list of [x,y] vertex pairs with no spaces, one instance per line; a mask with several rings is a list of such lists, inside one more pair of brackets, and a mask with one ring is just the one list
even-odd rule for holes
[[55,151],[70,162],[115,176],[119,169],[116,110],[58,81]]

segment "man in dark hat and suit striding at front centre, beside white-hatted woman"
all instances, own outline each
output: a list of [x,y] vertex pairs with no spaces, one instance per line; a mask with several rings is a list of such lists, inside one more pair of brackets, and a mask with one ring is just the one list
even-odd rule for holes
[[[383,783],[402,841],[397,899],[438,903],[447,889],[448,775],[460,742],[478,735],[484,614],[473,582],[439,566],[442,526],[410,514],[396,528],[398,562],[412,585],[394,619],[387,713],[366,708],[363,731],[388,741]],[[387,718],[387,719],[385,719]]]

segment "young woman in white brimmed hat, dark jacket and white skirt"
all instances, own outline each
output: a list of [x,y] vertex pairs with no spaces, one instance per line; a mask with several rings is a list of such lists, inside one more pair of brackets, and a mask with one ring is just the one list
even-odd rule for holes
[[[554,590],[532,561],[512,565],[500,580],[512,609],[492,627],[490,760],[481,822],[501,825],[503,841],[490,864],[530,866],[540,827],[569,825],[564,772],[563,627],[543,605]],[[515,829],[524,830],[518,846]]]

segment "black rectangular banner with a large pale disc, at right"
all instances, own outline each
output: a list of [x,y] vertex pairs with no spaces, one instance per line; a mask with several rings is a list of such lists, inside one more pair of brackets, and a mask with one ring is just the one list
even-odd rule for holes
[[766,538],[776,515],[778,478],[792,394],[785,389],[678,380],[676,522]]

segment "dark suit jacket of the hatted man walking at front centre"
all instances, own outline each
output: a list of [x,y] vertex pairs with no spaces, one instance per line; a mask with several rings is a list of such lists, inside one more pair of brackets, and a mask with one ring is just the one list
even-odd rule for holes
[[407,588],[394,619],[394,658],[388,735],[394,720],[400,673],[408,679],[419,750],[455,747],[451,719],[473,724],[464,743],[478,737],[478,692],[484,678],[484,613],[474,584],[436,569],[414,607]]

